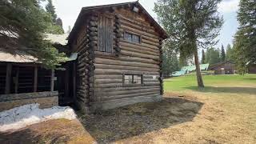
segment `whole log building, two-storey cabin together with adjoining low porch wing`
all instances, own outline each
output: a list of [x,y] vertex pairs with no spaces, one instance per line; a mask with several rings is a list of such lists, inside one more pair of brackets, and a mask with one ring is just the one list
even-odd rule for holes
[[68,37],[47,37],[70,58],[58,70],[0,51],[0,111],[37,102],[88,114],[162,99],[167,34],[138,2],[83,7]]

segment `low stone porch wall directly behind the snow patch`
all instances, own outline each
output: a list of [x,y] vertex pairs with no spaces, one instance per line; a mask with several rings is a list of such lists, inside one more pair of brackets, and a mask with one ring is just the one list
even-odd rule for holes
[[31,103],[39,103],[40,108],[58,106],[58,91],[24,94],[0,94],[0,111],[10,110],[14,107]]

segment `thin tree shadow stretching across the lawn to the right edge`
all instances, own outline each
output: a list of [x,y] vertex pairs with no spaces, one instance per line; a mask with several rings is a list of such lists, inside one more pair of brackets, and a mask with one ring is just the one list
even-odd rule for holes
[[198,86],[189,86],[185,89],[196,90],[204,93],[236,93],[236,94],[256,94],[255,87],[217,87],[206,86],[203,89],[199,89]]

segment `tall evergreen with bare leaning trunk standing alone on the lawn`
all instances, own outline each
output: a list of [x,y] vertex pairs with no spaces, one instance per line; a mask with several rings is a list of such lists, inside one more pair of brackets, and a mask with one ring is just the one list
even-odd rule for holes
[[222,26],[218,15],[218,3],[221,0],[158,0],[154,11],[158,20],[170,35],[166,41],[170,48],[188,58],[194,55],[198,87],[204,87],[198,60],[198,48],[216,44]]

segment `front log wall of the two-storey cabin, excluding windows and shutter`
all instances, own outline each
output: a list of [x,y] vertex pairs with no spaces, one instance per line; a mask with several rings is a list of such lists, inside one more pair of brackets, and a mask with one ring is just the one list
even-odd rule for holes
[[[114,15],[115,18],[114,55],[95,50],[93,103],[104,104],[122,99],[129,101],[127,98],[157,97],[162,94],[162,39],[154,27],[140,14],[130,10],[119,9],[105,14]],[[124,32],[139,35],[141,42],[127,42],[123,38]],[[142,85],[124,85],[123,74],[142,74]],[[106,106],[96,107],[107,109]]]

